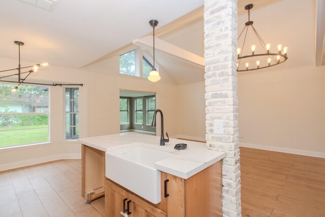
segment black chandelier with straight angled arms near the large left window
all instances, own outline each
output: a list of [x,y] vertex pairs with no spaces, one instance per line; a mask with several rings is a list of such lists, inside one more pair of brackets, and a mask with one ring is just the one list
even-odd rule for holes
[[[11,75],[0,76],[0,81],[3,81],[3,82],[11,82],[11,83],[18,83],[17,86],[11,88],[11,91],[12,92],[16,92],[17,89],[19,88],[19,85],[22,84],[22,83],[25,83],[25,84],[41,84],[41,85],[50,85],[50,86],[62,86],[62,85],[69,85],[69,86],[70,85],[78,85],[78,86],[83,86],[83,84],[55,84],[55,83],[53,83],[53,84],[46,84],[46,83],[26,82],[26,78],[31,73],[38,72],[40,67],[47,67],[49,64],[47,62],[44,62],[44,63],[36,64],[34,66],[21,67],[20,66],[20,46],[23,46],[24,43],[23,42],[20,42],[20,41],[15,41],[14,43],[16,45],[18,45],[18,67],[15,68],[15,69],[8,69],[8,70],[0,71],[0,73],[1,72],[14,71],[14,70],[17,70],[18,71],[18,73],[14,73],[14,74],[11,74]],[[28,71],[26,71],[26,72],[21,72],[22,69],[26,69],[26,68],[31,68],[31,69],[28,70]],[[3,80],[3,78],[12,77],[12,76],[18,76],[18,80],[17,81]]]

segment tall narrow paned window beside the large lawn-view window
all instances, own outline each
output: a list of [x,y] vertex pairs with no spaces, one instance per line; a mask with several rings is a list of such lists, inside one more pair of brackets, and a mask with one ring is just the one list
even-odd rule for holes
[[79,88],[66,88],[66,139],[79,138]]

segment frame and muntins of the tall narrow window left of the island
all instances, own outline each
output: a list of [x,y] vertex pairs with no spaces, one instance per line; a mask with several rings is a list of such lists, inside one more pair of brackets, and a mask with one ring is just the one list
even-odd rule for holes
[[[67,92],[67,89],[70,89],[69,90],[69,107],[70,107],[70,111],[67,112],[67,108],[66,108],[66,105],[67,105],[67,99],[66,99],[66,92]],[[79,87],[64,87],[64,140],[77,140],[80,138],[80,128],[79,128],[79,125],[71,125],[72,122],[77,122],[77,121],[74,121],[74,114],[78,114],[78,118],[80,118],[80,92],[79,92],[79,98],[78,99],[74,99],[74,90],[78,89],[78,91],[80,91]],[[74,108],[75,108],[75,105],[74,105],[74,102],[78,102],[78,112],[75,112],[74,111]],[[69,134],[67,132],[67,114],[69,114],[70,116],[70,125],[69,125]],[[72,132],[72,129],[74,128],[74,132]],[[77,128],[79,128],[79,134],[77,134]],[[67,138],[68,137],[68,138]]]

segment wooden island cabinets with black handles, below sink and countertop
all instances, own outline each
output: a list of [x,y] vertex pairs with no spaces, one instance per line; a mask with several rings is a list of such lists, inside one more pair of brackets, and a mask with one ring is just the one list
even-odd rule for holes
[[[188,179],[161,172],[161,202],[152,204],[117,183],[105,180],[105,216],[222,216],[221,162]],[[131,213],[130,213],[131,212]]]

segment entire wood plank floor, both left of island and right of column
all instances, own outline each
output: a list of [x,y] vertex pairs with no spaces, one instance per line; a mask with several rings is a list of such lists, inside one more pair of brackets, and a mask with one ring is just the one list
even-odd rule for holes
[[[242,216],[325,216],[325,159],[240,149]],[[0,172],[0,217],[103,216],[80,190],[80,160]]]

